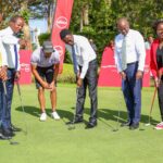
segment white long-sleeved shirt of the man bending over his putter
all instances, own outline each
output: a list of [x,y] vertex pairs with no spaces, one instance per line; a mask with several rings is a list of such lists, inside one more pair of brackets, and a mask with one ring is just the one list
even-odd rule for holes
[[[85,78],[89,66],[89,62],[95,60],[97,55],[86,37],[79,35],[73,35],[73,37],[74,37],[74,49],[76,54],[76,61],[78,66],[83,67],[80,73],[80,78]],[[72,46],[66,45],[66,49],[71,53],[71,58],[73,61]],[[79,67],[77,68],[79,70]]]

